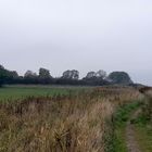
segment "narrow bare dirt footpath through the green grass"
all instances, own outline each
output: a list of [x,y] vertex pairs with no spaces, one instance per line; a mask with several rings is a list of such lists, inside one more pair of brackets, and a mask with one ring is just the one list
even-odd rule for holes
[[135,139],[135,137],[136,137],[135,136],[135,126],[134,126],[134,124],[131,124],[131,119],[136,118],[139,113],[140,113],[140,110],[136,111],[127,123],[126,143],[127,143],[128,152],[141,152],[139,150],[138,143]]

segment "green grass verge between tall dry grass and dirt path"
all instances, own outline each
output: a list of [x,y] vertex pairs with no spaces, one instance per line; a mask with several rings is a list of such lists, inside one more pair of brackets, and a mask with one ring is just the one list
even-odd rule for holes
[[111,130],[111,139],[106,152],[127,152],[125,129],[131,113],[140,106],[139,101],[131,101],[122,105],[115,112],[112,118],[113,129]]

